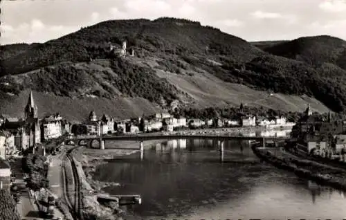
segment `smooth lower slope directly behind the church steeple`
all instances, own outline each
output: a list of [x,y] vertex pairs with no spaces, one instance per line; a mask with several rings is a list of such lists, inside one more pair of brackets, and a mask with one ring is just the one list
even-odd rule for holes
[[[24,117],[24,107],[28,101],[28,90],[19,93],[8,100],[0,100],[0,113],[10,116]],[[142,116],[143,113],[150,114],[162,109],[143,98],[68,98],[33,91],[35,104],[38,107],[39,118],[47,113],[60,112],[70,121],[83,121],[90,111],[95,111],[98,116],[107,113],[118,119]]]

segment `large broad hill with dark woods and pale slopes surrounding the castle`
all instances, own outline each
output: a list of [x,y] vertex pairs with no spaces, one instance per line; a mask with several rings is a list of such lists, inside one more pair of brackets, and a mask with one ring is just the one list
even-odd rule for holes
[[[135,57],[109,52],[110,44],[120,47],[124,40]],[[343,111],[346,71],[340,62],[323,59],[315,65],[268,53],[282,44],[262,51],[244,39],[186,19],[104,21],[44,44],[1,46],[0,97],[14,103],[30,87],[40,94],[79,100],[125,98],[134,104],[131,99],[144,98],[165,109],[248,102],[300,111],[304,102],[314,103],[316,109],[322,102]],[[271,98],[260,92],[268,89],[275,92]],[[0,111],[10,111],[3,108]]]

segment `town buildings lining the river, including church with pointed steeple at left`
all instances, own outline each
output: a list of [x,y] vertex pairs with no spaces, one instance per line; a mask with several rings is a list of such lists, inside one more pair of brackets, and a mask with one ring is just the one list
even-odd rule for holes
[[[96,137],[149,132],[162,132],[165,135],[169,135],[174,134],[174,132],[189,132],[196,129],[205,133],[220,131],[218,128],[263,127],[263,129],[267,130],[289,127],[292,128],[292,131],[291,138],[287,140],[287,145],[291,146],[291,149],[304,152],[307,155],[322,156],[324,158],[338,157],[340,160],[345,160],[346,136],[343,134],[346,131],[345,122],[343,120],[333,120],[330,112],[324,120],[320,115],[313,114],[309,105],[298,122],[288,122],[284,116],[256,118],[256,116],[242,113],[242,107],[239,108],[239,118],[210,118],[207,120],[184,117],[174,118],[167,112],[141,118],[115,120],[107,116],[107,114],[98,117],[95,111],[91,111],[86,120],[78,124],[72,124],[60,116],[59,113],[39,118],[38,111],[33,92],[30,90],[28,102],[26,107],[24,107],[25,118],[19,119],[2,115],[0,120],[0,187],[11,192],[15,201],[19,204],[21,203],[21,196],[17,188],[21,181],[15,181],[15,178],[18,176],[14,173],[17,173],[17,171],[14,171],[13,167],[8,165],[7,160],[12,160],[14,157],[20,158],[31,152],[44,156],[42,158],[44,161],[50,161],[51,156],[55,156],[55,154],[62,151],[61,143],[63,143],[64,138],[74,136]],[[59,140],[59,143],[54,142],[53,147],[48,147],[48,143],[52,140]],[[25,175],[28,176],[28,174]],[[30,175],[33,174],[29,173]],[[33,176],[30,178],[33,178]],[[29,179],[30,182],[30,178],[26,177],[24,179]],[[42,179],[45,179],[45,177],[42,177]],[[44,187],[44,185],[40,185],[42,183],[35,184],[27,183],[26,185],[35,190]],[[46,196],[46,200],[48,199],[49,201],[51,199],[51,201],[54,201],[53,196],[54,194]],[[46,212],[53,210],[54,206],[55,202],[52,202],[51,208],[47,208]]]

